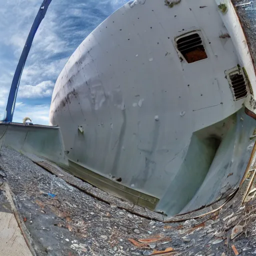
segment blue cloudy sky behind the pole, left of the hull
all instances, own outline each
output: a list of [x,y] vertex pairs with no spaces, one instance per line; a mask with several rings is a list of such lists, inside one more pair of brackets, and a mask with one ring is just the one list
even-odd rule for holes
[[[0,6],[0,119],[31,24],[42,0],[5,0]],[[82,40],[126,0],[52,0],[24,67],[13,121],[29,116],[48,124],[58,74]]]

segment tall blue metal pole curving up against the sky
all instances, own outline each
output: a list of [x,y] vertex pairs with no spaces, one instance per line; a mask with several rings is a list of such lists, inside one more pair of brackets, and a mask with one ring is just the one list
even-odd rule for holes
[[51,0],[43,0],[42,1],[42,4],[37,12],[37,15],[34,19],[34,22],[31,26],[31,29],[27,36],[24,48],[23,48],[20,58],[18,60],[18,64],[17,64],[16,70],[15,70],[15,73],[14,73],[14,76],[13,76],[13,79],[11,82],[8,101],[7,101],[6,110],[5,110],[5,117],[3,120],[5,122],[12,121],[12,116],[13,116],[13,112],[14,112],[14,108],[15,108],[15,101],[16,101],[16,96],[17,96],[17,90],[18,90],[22,70],[25,65],[29,50],[31,48],[32,41],[33,41],[34,35],[36,33],[36,30],[37,30],[38,26],[40,25],[42,19],[45,16],[45,13],[48,9],[50,2],[51,2]]

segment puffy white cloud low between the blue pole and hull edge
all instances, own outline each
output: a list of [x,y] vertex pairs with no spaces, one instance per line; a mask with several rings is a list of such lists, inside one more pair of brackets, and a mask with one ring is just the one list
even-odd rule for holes
[[18,90],[19,98],[42,98],[50,97],[54,83],[52,81],[42,81],[36,85],[23,85]]

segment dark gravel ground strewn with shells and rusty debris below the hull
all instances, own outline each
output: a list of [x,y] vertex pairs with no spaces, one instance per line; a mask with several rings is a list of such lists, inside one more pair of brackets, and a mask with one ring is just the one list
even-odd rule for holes
[[8,183],[37,255],[223,256],[235,255],[232,245],[239,255],[256,254],[255,201],[240,207],[242,189],[218,211],[163,223],[100,201],[10,148],[0,151],[0,182]]

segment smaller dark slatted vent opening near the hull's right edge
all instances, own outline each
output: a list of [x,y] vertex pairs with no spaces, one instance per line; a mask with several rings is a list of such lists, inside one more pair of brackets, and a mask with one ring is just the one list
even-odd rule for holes
[[232,84],[235,100],[243,98],[247,95],[247,88],[242,74],[232,74],[229,76]]

